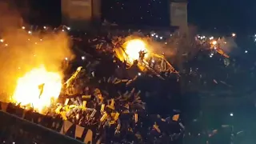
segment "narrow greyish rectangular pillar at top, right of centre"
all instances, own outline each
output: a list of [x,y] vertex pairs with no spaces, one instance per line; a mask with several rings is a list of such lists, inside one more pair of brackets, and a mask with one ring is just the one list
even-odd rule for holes
[[170,3],[170,25],[186,27],[187,26],[187,3],[171,2]]

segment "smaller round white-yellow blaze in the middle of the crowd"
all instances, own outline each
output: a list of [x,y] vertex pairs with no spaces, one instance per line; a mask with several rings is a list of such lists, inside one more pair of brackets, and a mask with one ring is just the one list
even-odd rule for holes
[[139,58],[139,52],[141,50],[145,50],[145,52],[147,52],[145,42],[140,39],[128,41],[126,45],[126,54],[128,54],[129,62],[134,62],[134,60],[137,60]]

